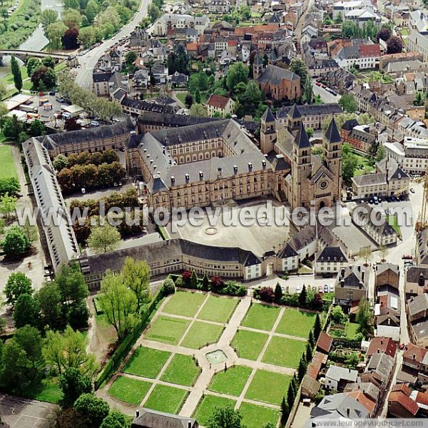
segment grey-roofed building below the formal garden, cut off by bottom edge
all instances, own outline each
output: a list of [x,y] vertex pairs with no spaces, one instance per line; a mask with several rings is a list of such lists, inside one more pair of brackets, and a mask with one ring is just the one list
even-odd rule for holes
[[157,412],[151,409],[137,410],[131,428],[198,428],[196,419],[178,414]]

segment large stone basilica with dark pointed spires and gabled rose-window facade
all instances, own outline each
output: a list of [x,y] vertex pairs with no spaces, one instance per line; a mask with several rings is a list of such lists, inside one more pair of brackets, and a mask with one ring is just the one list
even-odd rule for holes
[[[275,165],[281,163],[277,192],[292,209],[332,207],[342,193],[342,139],[333,118],[322,141],[322,155],[312,155],[311,145],[297,105],[290,109],[284,126],[267,108],[261,118],[260,149]],[[278,168],[278,166],[277,166]],[[276,171],[276,175],[277,175]]]

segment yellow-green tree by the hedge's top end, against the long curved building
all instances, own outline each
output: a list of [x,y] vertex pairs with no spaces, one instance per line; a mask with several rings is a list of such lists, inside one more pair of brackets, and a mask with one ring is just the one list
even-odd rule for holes
[[126,285],[136,295],[137,312],[141,307],[150,302],[150,267],[146,260],[134,260],[127,257],[123,264],[121,275],[123,284]]

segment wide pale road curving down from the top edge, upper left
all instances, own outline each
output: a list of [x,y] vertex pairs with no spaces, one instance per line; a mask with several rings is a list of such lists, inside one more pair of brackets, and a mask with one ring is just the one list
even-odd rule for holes
[[89,51],[86,55],[78,57],[81,68],[78,68],[76,83],[78,83],[79,86],[82,86],[83,88],[91,88],[92,71],[93,67],[96,66],[98,58],[100,58],[105,51],[111,49],[118,42],[118,39],[129,36],[133,29],[135,29],[136,26],[138,26],[138,24],[140,24],[141,21],[146,18],[149,4],[150,0],[141,0],[140,9],[138,9],[136,14],[133,16],[133,19],[131,19],[131,21],[126,24],[126,26],[123,26],[121,31],[119,31],[118,34],[113,37],[113,39],[104,41],[101,46],[91,49],[91,51]]

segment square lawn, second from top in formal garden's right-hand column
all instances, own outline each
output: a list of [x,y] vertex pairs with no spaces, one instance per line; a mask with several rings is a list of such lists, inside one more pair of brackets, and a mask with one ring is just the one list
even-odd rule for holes
[[305,352],[306,343],[301,340],[286,339],[285,337],[272,337],[262,361],[282,367],[299,367],[302,353]]

